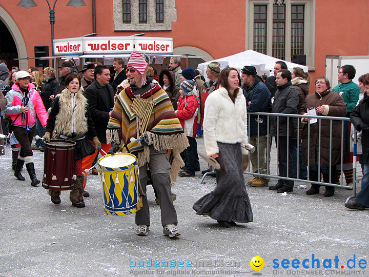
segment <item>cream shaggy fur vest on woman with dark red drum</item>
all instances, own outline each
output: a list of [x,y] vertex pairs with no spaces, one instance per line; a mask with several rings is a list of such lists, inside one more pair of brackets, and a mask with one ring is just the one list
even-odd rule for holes
[[54,131],[57,134],[72,136],[72,117],[74,117],[74,130],[76,135],[85,135],[88,131],[86,109],[87,99],[81,91],[78,91],[75,98],[75,105],[72,107],[72,93],[64,89],[59,95],[59,112],[56,115]]

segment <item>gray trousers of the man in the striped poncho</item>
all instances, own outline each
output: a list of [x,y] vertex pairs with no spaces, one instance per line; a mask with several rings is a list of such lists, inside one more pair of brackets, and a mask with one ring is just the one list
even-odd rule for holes
[[[167,150],[156,152],[152,145],[150,147],[150,163],[139,168],[139,179],[142,190],[146,193],[148,181],[147,169],[151,171],[151,181],[156,189],[161,210],[161,225],[164,227],[169,223],[177,225],[177,212],[173,205],[171,180],[169,175],[170,163],[168,162]],[[136,212],[136,224],[150,226],[150,211],[147,195],[142,197],[142,207]]]

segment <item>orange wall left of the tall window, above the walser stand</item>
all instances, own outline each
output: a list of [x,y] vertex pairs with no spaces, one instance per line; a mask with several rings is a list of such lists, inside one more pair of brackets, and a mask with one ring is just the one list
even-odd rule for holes
[[[30,9],[17,7],[17,3],[18,0],[2,0],[0,5],[11,15],[20,29],[26,42],[28,56],[34,56],[35,45],[49,45],[51,55],[51,27],[46,1],[37,1],[38,6]],[[67,3],[67,0],[59,0],[56,3],[55,39],[92,33],[92,0],[85,0],[87,6],[78,9],[66,6]],[[128,36],[141,33],[141,31],[114,31],[112,3],[112,0],[96,1],[97,35]],[[214,58],[245,50],[243,1],[229,0],[227,5],[224,5],[224,1],[214,0],[209,5],[208,1],[187,0],[176,1],[175,5],[177,21],[172,23],[172,31],[142,32],[146,36],[173,37],[174,48],[193,46],[208,52]],[[33,65],[33,62],[29,64]]]

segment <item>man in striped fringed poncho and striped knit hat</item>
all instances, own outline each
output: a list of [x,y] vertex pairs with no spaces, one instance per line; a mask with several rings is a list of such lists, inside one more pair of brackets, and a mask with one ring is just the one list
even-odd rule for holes
[[[142,207],[136,212],[136,234],[147,235],[150,226],[146,196],[149,168],[160,202],[163,233],[173,238],[179,235],[179,231],[176,227],[177,213],[173,205],[171,183],[175,182],[180,167],[184,165],[179,153],[189,144],[168,94],[146,77],[147,66],[144,55],[139,52],[131,54],[127,64],[130,86],[119,93],[108,124],[107,141],[112,144],[108,153],[125,151],[126,145],[137,156],[143,195]],[[133,112],[132,103],[135,98],[154,103],[152,113],[146,120],[148,124]],[[146,125],[147,128],[144,128]],[[132,137],[145,139],[140,143],[130,143]]]

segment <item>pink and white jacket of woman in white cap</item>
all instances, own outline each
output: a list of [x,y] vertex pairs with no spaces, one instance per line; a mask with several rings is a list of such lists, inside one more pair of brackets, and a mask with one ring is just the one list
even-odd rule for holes
[[[48,120],[48,114],[45,110],[44,103],[42,102],[41,96],[35,90],[34,85],[29,83],[28,85],[28,112],[26,116],[28,117],[28,126],[32,128],[36,123],[36,118],[38,118],[43,125],[46,126],[46,121]],[[17,115],[14,125],[16,126],[26,126],[27,121],[22,122],[22,100],[24,94],[20,91],[18,84],[14,84],[12,89],[6,94],[6,99],[8,101],[7,106],[4,109],[5,114],[9,114],[11,119],[14,121]]]

